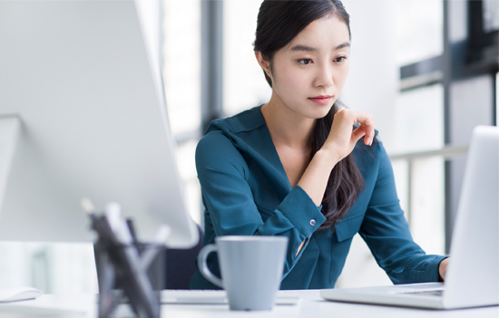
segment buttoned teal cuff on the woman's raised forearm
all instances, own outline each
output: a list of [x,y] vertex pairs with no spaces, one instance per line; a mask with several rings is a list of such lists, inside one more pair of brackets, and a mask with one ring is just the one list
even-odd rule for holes
[[326,221],[320,207],[317,207],[307,192],[298,185],[284,198],[278,210],[305,237],[311,236]]

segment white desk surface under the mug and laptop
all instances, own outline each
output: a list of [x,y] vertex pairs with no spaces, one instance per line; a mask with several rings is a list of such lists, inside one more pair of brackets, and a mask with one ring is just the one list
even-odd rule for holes
[[[411,308],[397,308],[388,306],[377,306],[367,304],[342,304],[327,302],[320,298],[318,290],[293,291],[299,295],[300,301],[297,305],[275,306],[269,312],[233,312],[228,305],[181,305],[166,304],[161,307],[161,317],[168,318],[223,318],[223,317],[279,317],[279,318],[338,318],[338,317],[383,317],[383,318],[411,318],[411,317],[445,317],[445,318],[469,318],[469,317],[499,317],[499,306],[454,310],[435,311]],[[24,317],[85,317],[94,318],[96,314],[95,294],[73,294],[56,295],[44,294],[33,301],[20,302],[17,304],[0,304],[0,317],[2,318],[24,318]],[[57,308],[61,310],[75,310],[82,313],[50,313],[44,308]]]

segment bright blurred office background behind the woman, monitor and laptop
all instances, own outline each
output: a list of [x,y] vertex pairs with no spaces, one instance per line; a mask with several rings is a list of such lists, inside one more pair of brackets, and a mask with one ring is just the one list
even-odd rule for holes
[[[144,34],[161,65],[177,161],[202,226],[194,151],[210,120],[269,100],[254,58],[261,0],[142,0]],[[497,122],[499,1],[344,0],[351,66],[340,99],[374,114],[416,243],[445,254],[465,154],[476,125]],[[88,243],[0,242],[0,285],[97,291]],[[391,284],[357,235],[338,287]]]

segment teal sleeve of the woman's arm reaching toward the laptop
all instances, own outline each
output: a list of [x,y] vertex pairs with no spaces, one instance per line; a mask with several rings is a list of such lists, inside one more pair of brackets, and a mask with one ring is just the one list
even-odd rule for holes
[[426,255],[409,231],[396,195],[393,169],[381,143],[377,144],[377,180],[359,234],[394,284],[437,282],[445,258]]

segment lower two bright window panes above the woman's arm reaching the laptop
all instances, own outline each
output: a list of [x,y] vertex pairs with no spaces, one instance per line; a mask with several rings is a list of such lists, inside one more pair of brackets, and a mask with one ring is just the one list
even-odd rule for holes
[[[444,145],[442,84],[400,92],[393,151],[409,153],[442,149]],[[405,178],[397,176],[400,182],[396,186],[416,243],[426,253],[445,254],[444,159],[404,159],[405,164],[393,161],[398,164],[396,173],[407,174]]]

